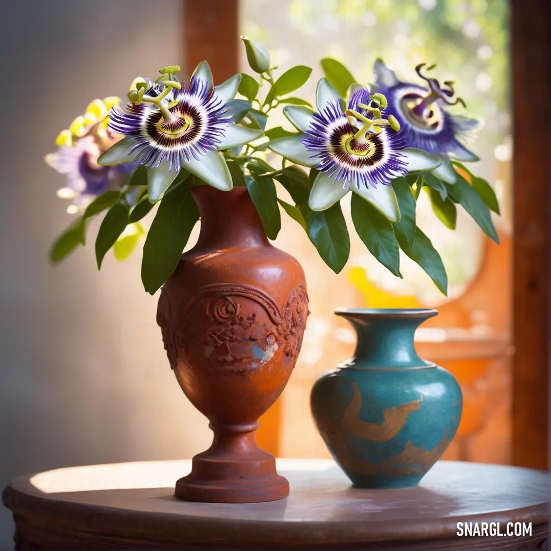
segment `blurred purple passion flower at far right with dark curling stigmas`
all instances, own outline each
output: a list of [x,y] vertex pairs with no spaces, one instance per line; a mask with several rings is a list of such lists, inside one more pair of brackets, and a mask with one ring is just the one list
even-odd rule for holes
[[434,174],[449,183],[456,181],[451,160],[477,161],[478,156],[461,141],[468,139],[479,126],[476,118],[451,114],[446,107],[461,104],[455,95],[453,83],[440,84],[435,78],[423,74],[434,66],[420,63],[415,71],[425,85],[402,82],[381,60],[375,62],[376,91],[385,95],[388,106],[385,112],[396,117],[404,131],[409,147],[422,149],[442,158],[442,165]]

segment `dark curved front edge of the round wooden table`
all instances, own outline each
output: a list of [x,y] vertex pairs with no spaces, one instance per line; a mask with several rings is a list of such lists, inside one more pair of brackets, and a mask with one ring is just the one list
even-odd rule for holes
[[[21,480],[23,478],[23,480]],[[181,515],[171,512],[135,511],[110,505],[91,505],[77,501],[62,501],[48,498],[14,486],[24,482],[20,477],[9,484],[2,493],[4,505],[13,512],[14,519],[23,519],[25,523],[43,528],[55,523],[56,530],[63,528],[78,534],[90,534],[94,525],[103,533],[112,537],[128,538],[128,533],[139,531],[143,538],[153,538],[159,542],[205,543],[209,534],[209,543],[239,543],[239,534],[235,533],[236,523],[241,530],[247,531],[247,542],[262,542],[269,539],[274,544],[285,544],[308,534],[309,544],[318,543],[371,543],[448,539],[457,537],[457,522],[531,522],[534,527],[548,525],[551,503],[535,504],[506,511],[483,512],[468,517],[451,516],[439,519],[408,519],[400,523],[388,521],[305,521],[285,522],[273,520],[268,523],[260,520],[229,518],[201,518],[193,515]],[[83,513],[85,512],[85,515]],[[83,520],[85,519],[85,520]],[[110,520],[112,519],[112,520]],[[139,522],[138,522],[139,521]],[[240,531],[241,531],[240,530]],[[235,534],[231,537],[231,534]]]

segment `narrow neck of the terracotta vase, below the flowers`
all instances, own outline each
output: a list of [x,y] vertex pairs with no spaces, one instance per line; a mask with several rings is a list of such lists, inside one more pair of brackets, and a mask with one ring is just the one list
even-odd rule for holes
[[212,186],[195,186],[191,188],[191,195],[201,217],[197,248],[270,245],[246,187],[220,191]]

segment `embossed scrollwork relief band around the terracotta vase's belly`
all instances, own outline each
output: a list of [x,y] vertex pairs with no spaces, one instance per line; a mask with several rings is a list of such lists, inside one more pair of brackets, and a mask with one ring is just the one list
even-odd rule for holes
[[294,357],[306,325],[304,286],[289,296],[285,309],[248,285],[213,284],[188,301],[176,329],[176,345],[210,371],[241,374],[261,368],[283,347]]

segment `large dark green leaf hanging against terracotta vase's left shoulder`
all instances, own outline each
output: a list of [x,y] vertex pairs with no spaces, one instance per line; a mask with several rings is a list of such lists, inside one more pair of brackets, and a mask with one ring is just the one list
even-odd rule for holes
[[145,239],[142,282],[152,295],[176,269],[183,247],[199,219],[190,187],[188,180],[163,198]]

